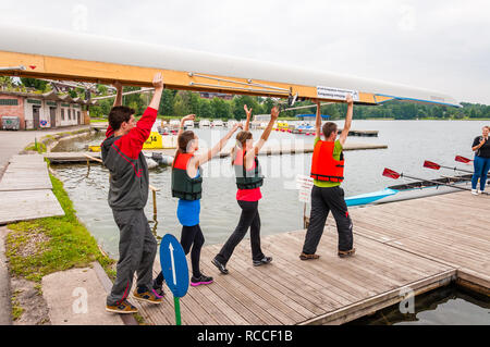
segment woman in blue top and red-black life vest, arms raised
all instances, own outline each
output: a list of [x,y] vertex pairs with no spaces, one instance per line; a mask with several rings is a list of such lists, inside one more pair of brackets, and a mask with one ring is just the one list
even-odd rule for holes
[[[199,226],[200,198],[203,193],[203,170],[200,166],[218,154],[242,123],[235,126],[210,150],[197,154],[199,138],[192,131],[184,132],[184,123],[194,121],[189,114],[182,119],[177,134],[179,149],[172,165],[172,197],[179,198],[177,219],[182,224],[181,245],[185,255],[191,251],[193,267],[192,286],[211,284],[213,278],[201,273],[199,269],[200,249],[205,243]],[[163,294],[163,274],[155,280],[154,289]]]

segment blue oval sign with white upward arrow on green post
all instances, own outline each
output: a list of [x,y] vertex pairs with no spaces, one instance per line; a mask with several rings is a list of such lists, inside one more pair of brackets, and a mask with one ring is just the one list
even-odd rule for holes
[[184,249],[175,236],[167,234],[160,244],[160,264],[167,286],[173,294],[175,324],[181,325],[180,298],[187,294],[188,268]]

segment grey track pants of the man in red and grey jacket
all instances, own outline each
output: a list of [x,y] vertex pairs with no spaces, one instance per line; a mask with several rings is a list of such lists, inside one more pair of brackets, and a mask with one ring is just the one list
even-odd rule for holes
[[137,273],[137,287],[152,286],[152,268],[157,255],[157,240],[142,210],[114,211],[120,230],[119,261],[115,281],[107,297],[107,305],[120,305],[127,298]]

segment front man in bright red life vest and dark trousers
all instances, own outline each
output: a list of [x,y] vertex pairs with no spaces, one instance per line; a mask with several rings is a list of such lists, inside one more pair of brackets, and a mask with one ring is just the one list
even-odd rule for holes
[[339,257],[351,257],[355,253],[352,220],[344,200],[344,189],[340,187],[344,181],[344,156],[342,149],[351,129],[354,110],[354,101],[351,95],[347,95],[346,102],[347,115],[339,139],[336,139],[336,124],[327,122],[322,127],[324,140],[321,140],[321,111],[320,101],[317,100],[316,138],[311,162],[311,177],[314,178],[311,213],[303,252],[299,256],[301,260],[320,258],[315,252],[323,234],[330,211],[332,211],[335,219],[339,233]]

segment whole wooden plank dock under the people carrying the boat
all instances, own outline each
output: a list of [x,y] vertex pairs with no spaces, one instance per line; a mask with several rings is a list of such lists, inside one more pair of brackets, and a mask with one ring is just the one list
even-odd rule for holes
[[[357,252],[350,259],[336,256],[331,220],[318,260],[298,259],[305,231],[262,237],[262,250],[273,261],[259,268],[252,265],[245,239],[228,263],[228,275],[210,263],[221,245],[205,246],[201,271],[215,283],[189,287],[181,299],[183,324],[341,324],[404,300],[406,290],[418,295],[454,281],[490,295],[485,197],[455,193],[351,214]],[[154,271],[160,271],[158,260]],[[167,287],[166,295],[160,306],[134,302],[148,323],[174,324]]]

